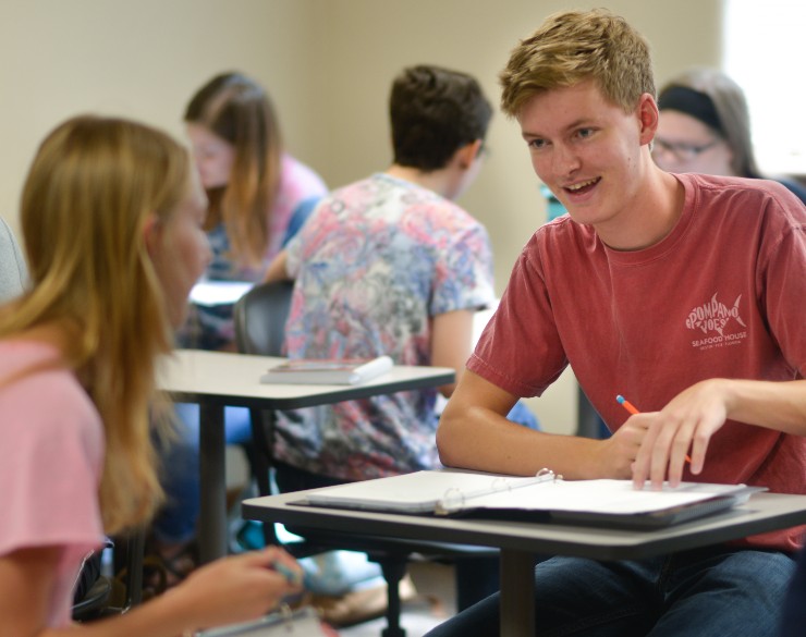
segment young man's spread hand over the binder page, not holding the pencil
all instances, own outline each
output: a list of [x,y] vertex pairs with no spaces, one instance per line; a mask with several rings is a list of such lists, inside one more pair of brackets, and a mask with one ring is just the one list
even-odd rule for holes
[[659,489],[667,477],[676,487],[689,453],[689,470],[698,475],[705,465],[708,443],[726,418],[726,397],[717,379],[692,385],[663,409],[650,414],[647,436],[633,467],[635,487],[643,488],[648,479]]

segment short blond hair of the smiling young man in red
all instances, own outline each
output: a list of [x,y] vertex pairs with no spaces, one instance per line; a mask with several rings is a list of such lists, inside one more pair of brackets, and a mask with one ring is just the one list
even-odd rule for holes
[[609,101],[632,111],[643,94],[655,97],[649,45],[604,9],[554,13],[513,49],[499,75],[501,110],[517,117],[535,95],[586,79],[594,79]]

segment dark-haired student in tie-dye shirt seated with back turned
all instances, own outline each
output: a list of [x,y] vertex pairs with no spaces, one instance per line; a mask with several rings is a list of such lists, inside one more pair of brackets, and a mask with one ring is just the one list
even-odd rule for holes
[[[325,197],[269,269],[296,281],[288,354],[384,354],[459,376],[494,295],[487,231],[453,201],[481,168],[492,108],[474,77],[417,65],[394,78],[389,113],[392,166]],[[280,414],[280,489],[439,466],[436,401],[429,389]],[[459,577],[460,607],[497,590],[494,564],[487,575]]]

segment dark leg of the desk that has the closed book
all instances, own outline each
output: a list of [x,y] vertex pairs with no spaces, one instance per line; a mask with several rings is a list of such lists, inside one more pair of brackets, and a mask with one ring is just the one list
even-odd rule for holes
[[200,511],[198,544],[203,564],[227,554],[224,408],[199,405]]

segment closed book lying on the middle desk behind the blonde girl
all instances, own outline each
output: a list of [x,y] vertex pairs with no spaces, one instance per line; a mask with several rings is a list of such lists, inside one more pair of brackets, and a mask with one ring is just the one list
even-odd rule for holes
[[266,384],[362,384],[394,367],[389,356],[371,359],[294,358],[272,367],[260,377]]

